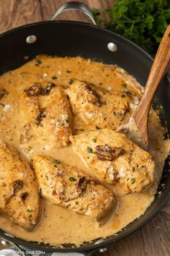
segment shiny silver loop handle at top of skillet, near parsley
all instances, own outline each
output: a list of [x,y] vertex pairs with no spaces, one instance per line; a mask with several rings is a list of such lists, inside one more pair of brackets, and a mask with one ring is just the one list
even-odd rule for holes
[[70,10],[84,12],[84,14],[86,14],[91,19],[91,22],[93,22],[94,25],[97,25],[97,23],[94,20],[94,16],[91,12],[91,9],[86,4],[80,3],[78,1],[68,1],[67,3],[61,5],[61,7],[59,7],[53,15],[51,20],[55,20],[58,17],[58,15]]

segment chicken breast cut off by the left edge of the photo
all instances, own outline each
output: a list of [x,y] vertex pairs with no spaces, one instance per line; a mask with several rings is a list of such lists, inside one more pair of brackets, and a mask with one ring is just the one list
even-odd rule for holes
[[32,230],[40,213],[35,174],[17,151],[3,141],[0,141],[0,194],[0,214]]

